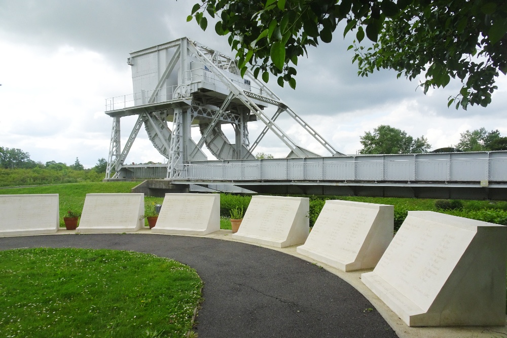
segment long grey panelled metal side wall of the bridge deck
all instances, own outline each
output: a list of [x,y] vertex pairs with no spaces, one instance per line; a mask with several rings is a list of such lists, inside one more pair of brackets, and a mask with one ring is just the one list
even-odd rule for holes
[[189,181],[506,182],[507,153],[206,161],[176,170]]

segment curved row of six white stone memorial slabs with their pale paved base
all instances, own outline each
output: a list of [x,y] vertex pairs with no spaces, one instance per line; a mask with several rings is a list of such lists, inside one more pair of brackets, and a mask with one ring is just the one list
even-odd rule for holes
[[[143,213],[143,194],[87,194],[76,232],[205,236],[274,248],[349,282],[401,337],[507,335],[507,227],[410,211],[393,238],[393,206],[327,201],[309,233],[309,199],[274,196],[252,197],[232,235],[220,230],[219,194],[166,194],[151,230]],[[0,195],[0,236],[74,232],[58,224],[58,195]]]

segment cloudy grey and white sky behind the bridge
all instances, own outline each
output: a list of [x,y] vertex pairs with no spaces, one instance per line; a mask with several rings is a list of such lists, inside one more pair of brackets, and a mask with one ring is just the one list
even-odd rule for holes
[[[188,36],[232,55],[227,37],[203,32],[186,22],[192,1],[150,0],[0,0],[0,146],[21,148],[34,161],[73,164],[76,157],[89,168],[107,158],[112,119],[104,114],[105,99],[132,93],[131,51]],[[350,38],[351,39],[351,38]],[[432,148],[456,144],[460,133],[485,127],[507,136],[507,79],[487,108],[447,108],[459,91],[452,82],[424,95],[418,81],[396,79],[394,71],[357,77],[346,51],[350,39],[336,34],[330,44],[309,50],[298,63],[297,89],[277,93],[325,139],[345,154],[361,148],[359,137],[380,124],[424,135]],[[122,119],[122,138],[135,118]],[[290,119],[280,118],[285,131],[301,145],[325,154]],[[250,140],[262,130],[249,125]],[[256,152],[284,157],[288,150],[267,136]],[[141,130],[127,162],[163,161]]]

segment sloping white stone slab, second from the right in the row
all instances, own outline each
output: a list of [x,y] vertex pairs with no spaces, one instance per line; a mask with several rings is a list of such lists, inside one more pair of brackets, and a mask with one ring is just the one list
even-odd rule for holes
[[342,271],[374,268],[393,230],[392,205],[328,200],[296,250]]

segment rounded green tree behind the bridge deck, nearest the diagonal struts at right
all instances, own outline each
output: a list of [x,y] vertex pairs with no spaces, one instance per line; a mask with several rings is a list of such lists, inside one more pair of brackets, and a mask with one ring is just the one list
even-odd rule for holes
[[424,137],[414,139],[405,131],[387,125],[380,125],[361,136],[361,154],[421,154],[427,153],[431,145]]

